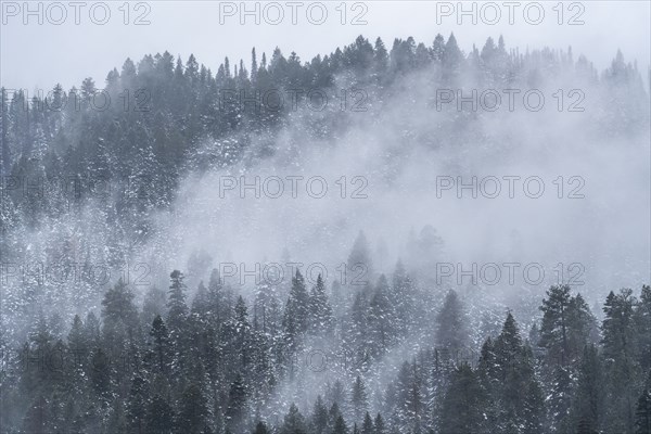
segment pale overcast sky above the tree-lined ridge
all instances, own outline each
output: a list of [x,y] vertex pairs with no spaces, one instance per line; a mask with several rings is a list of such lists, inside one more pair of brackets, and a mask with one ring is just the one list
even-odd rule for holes
[[[22,1],[2,2],[2,86],[33,91],[51,89],[61,82],[67,89],[79,86],[85,77],[93,77],[101,88],[107,72],[113,67],[119,71],[126,58],[138,61],[144,54],[165,50],[175,56],[180,54],[183,62],[194,53],[200,63],[216,72],[227,55],[231,65],[242,58],[248,68],[252,47],[257,49],[258,61],[263,52],[269,55],[276,46],[285,55],[295,51],[307,61],[350,43],[360,34],[372,40],[380,36],[391,48],[396,37],[413,36],[430,46],[437,33],[447,39],[450,31],[465,52],[473,43],[481,48],[488,36],[497,38],[500,34],[507,48],[519,47],[523,51],[527,47],[566,49],[572,46],[575,59],[583,53],[600,71],[621,48],[627,61],[638,61],[648,86],[651,9],[650,2],[644,0],[564,2],[562,8],[557,7],[557,1],[529,5],[529,2],[515,2],[513,9],[505,4],[508,2],[476,2],[476,24],[471,22],[471,15],[458,16],[456,1],[349,1],[344,7],[339,1],[305,1],[295,2],[295,9],[285,1],[275,5],[260,2],[257,5],[259,24],[255,23],[254,15],[242,16],[240,1],[130,2],[128,16],[122,1],[81,3],[84,5],[76,10],[68,1],[49,9],[50,3],[39,7],[38,2],[31,2],[29,9],[37,12],[26,15]],[[278,5],[282,8],[282,18],[279,18]],[[321,18],[321,5],[327,11],[324,18]],[[541,18],[538,18],[539,5],[544,11]],[[246,8],[254,10],[256,2],[247,2]],[[472,4],[467,2],[465,8],[470,10]],[[104,18],[106,9],[110,16]],[[79,24],[75,24],[76,11]],[[292,11],[296,11],[296,24],[292,24]],[[499,18],[496,11],[500,13]],[[513,24],[509,23],[509,15]],[[139,16],[149,24],[135,25]],[[42,24],[38,23],[39,18]],[[244,24],[241,24],[242,18],[246,20]],[[463,20],[461,25],[458,18]],[[125,24],[125,20],[129,24]],[[559,20],[563,24],[559,25]],[[99,24],[103,21],[106,23]],[[275,25],[275,21],[280,23]],[[323,23],[316,24],[319,21]],[[353,25],[354,21],[357,25]],[[533,24],[537,21],[541,21],[540,24]],[[570,25],[571,21],[584,24]]]

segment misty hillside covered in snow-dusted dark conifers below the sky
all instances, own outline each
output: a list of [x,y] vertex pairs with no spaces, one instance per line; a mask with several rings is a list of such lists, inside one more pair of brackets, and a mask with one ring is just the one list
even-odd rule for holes
[[[2,88],[1,432],[651,433],[649,72],[613,54],[360,36]],[[545,175],[554,201],[582,174],[578,205],[524,205],[582,227],[486,200],[451,230],[432,174],[476,170]],[[276,175],[336,197],[224,184]],[[465,237],[481,218],[512,238]],[[468,245],[547,278],[445,268]]]

